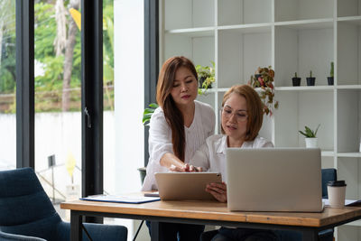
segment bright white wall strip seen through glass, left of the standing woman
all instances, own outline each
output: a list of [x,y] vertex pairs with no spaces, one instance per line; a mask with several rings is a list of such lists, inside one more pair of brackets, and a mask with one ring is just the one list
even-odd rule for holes
[[[141,181],[137,168],[143,167],[143,103],[144,103],[144,15],[143,0],[115,0],[115,113],[116,162],[115,193],[139,191]],[[106,126],[105,126],[106,128]],[[116,219],[128,227],[132,240],[132,220]],[[141,236],[137,240],[142,240]],[[149,236],[145,237],[145,240]]]

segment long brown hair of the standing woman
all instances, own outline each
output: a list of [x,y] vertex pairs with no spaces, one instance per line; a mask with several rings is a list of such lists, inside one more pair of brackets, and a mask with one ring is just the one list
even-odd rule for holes
[[171,144],[173,153],[184,162],[186,138],[184,134],[184,119],[180,109],[175,105],[171,97],[171,89],[175,78],[175,72],[185,67],[194,75],[198,81],[197,71],[193,63],[183,57],[175,56],[166,60],[162,65],[157,83],[157,102],[164,112],[168,125],[171,126]]

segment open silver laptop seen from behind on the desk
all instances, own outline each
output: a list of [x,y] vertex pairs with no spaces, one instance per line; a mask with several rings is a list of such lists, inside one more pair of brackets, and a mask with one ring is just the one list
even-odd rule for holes
[[227,149],[231,211],[322,211],[319,148]]

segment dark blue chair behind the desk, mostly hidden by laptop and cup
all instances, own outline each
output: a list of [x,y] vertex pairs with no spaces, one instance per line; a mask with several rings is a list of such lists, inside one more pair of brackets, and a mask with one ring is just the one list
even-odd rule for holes
[[[337,170],[334,168],[327,168],[321,170],[322,176],[322,199],[328,199],[327,183],[329,181],[338,180]],[[302,240],[301,232],[279,230],[276,232],[280,239],[288,241],[299,241]],[[211,230],[204,232],[200,236],[200,241],[210,241],[214,236],[218,234],[218,230]],[[333,228],[323,230],[319,232],[319,241],[333,241]]]

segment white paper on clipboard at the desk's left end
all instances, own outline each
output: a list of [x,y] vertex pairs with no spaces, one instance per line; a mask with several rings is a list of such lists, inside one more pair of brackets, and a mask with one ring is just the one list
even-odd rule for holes
[[126,195],[94,195],[81,200],[91,201],[106,201],[106,202],[121,202],[121,203],[144,203],[160,200],[155,197],[143,197],[143,196],[126,196]]

